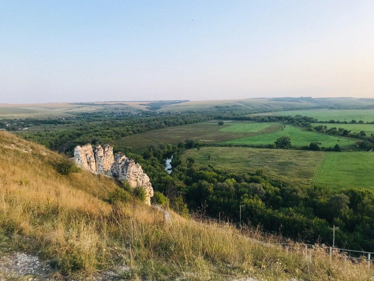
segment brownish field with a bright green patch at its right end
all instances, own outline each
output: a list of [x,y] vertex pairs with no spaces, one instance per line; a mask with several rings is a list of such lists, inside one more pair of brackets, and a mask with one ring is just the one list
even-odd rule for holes
[[279,123],[254,122],[225,122],[219,126],[218,121],[195,123],[182,126],[153,130],[125,137],[117,142],[118,145],[129,146],[134,151],[140,151],[157,143],[177,144],[186,139],[205,143],[223,142],[236,138],[276,132],[282,129]]

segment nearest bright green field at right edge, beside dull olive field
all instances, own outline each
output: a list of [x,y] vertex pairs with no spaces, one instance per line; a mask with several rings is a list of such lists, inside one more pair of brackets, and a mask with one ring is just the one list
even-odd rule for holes
[[374,152],[328,152],[313,182],[338,190],[357,187],[374,191]]

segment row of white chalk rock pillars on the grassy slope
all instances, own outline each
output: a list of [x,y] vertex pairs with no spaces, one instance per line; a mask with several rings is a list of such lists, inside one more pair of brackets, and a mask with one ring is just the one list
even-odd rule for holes
[[105,144],[96,145],[92,149],[91,144],[76,146],[74,148],[74,161],[80,166],[108,176],[113,176],[121,182],[128,181],[134,188],[142,186],[146,191],[146,201],[150,205],[153,196],[152,184],[149,181],[139,163],[127,158],[122,153],[113,155],[113,147]]

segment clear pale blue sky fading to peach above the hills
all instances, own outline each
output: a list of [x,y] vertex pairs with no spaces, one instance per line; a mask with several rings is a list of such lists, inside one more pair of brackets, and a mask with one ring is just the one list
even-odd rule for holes
[[0,103],[374,97],[373,1],[0,0]]

